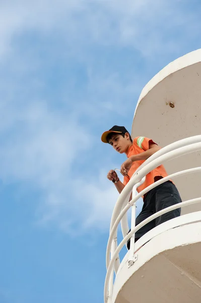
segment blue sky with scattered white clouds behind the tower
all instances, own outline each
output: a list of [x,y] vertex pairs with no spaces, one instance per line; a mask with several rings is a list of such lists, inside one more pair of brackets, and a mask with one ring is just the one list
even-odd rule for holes
[[100,136],[130,130],[144,85],[201,47],[200,15],[198,0],[0,1],[0,303],[103,302],[106,174],[125,157]]

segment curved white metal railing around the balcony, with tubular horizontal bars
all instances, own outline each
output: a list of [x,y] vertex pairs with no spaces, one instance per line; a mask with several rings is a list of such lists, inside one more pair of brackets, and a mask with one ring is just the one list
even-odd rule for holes
[[[104,301],[107,303],[111,302],[112,291],[113,291],[113,275],[114,272],[117,273],[118,267],[120,265],[119,261],[119,251],[122,249],[123,245],[126,244],[127,240],[130,239],[130,250],[128,263],[132,265],[135,262],[135,233],[142,228],[144,225],[154,220],[155,218],[175,210],[180,207],[184,207],[187,205],[192,205],[201,201],[201,197],[196,199],[190,199],[179,203],[177,205],[173,205],[168,207],[156,214],[150,216],[148,219],[144,220],[137,226],[135,226],[136,220],[136,201],[142,197],[145,193],[155,188],[156,186],[166,182],[169,179],[176,178],[182,175],[191,174],[194,172],[201,172],[201,167],[191,168],[187,170],[183,170],[180,172],[176,172],[171,174],[163,179],[158,180],[157,182],[151,184],[140,193],[136,194],[136,189],[145,181],[146,175],[151,172],[154,168],[159,165],[165,163],[168,160],[192,153],[194,151],[201,150],[201,135],[189,137],[186,139],[179,140],[172,144],[167,145],[164,148],[161,148],[157,153],[152,155],[149,159],[147,159],[141,167],[133,174],[130,181],[123,188],[120,193],[116,205],[113,210],[111,224],[110,224],[110,235],[107,244],[106,251],[106,267],[107,274],[105,278],[105,287],[104,287]],[[133,192],[132,199],[129,201],[130,193]],[[128,224],[127,224],[127,211],[132,207],[131,211],[131,231],[128,232]],[[117,246],[117,227],[121,222],[121,230],[123,234],[123,240]]]

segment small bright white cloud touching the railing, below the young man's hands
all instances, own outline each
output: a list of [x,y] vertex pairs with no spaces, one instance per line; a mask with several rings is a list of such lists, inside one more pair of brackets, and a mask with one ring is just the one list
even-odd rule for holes
[[83,177],[66,181],[71,186],[61,186],[52,194],[50,189],[47,204],[38,213],[40,224],[56,224],[72,236],[89,230],[108,231],[116,189],[109,182],[102,187],[106,182],[86,182]]

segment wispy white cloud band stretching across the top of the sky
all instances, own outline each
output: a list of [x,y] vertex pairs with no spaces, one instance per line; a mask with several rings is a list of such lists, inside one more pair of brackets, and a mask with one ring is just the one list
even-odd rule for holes
[[173,53],[184,37],[190,39],[200,30],[199,13],[192,16],[184,8],[179,0],[7,1],[1,3],[0,49],[8,54],[12,39],[36,30],[44,36],[60,35],[76,54],[82,52],[75,46],[91,43],[132,46],[149,57]]

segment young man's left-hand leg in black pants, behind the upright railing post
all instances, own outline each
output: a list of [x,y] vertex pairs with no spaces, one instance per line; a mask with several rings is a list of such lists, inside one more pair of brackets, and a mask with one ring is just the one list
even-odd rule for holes
[[[142,212],[136,218],[136,226],[152,215],[153,215],[152,211],[142,210]],[[155,226],[156,226],[156,222],[155,220],[152,220],[151,222],[143,226],[141,229],[139,229],[135,234],[135,242]],[[130,232],[130,230],[128,232]],[[127,241],[127,248],[130,249],[130,240]]]

